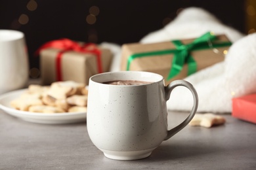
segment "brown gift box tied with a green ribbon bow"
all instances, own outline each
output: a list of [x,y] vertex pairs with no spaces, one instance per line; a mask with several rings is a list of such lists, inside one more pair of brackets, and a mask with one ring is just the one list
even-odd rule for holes
[[225,35],[212,32],[195,39],[123,44],[121,70],[158,73],[169,84],[223,61],[231,44]]

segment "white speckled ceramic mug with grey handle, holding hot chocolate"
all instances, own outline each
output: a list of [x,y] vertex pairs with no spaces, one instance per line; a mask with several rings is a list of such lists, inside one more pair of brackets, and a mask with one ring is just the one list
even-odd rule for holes
[[[139,80],[141,85],[110,85],[102,82]],[[168,130],[166,101],[177,86],[194,97],[192,110],[179,126]],[[87,130],[95,146],[107,158],[137,160],[150,156],[164,140],[185,127],[198,108],[198,95],[189,82],[175,80],[164,86],[163,76],[143,71],[101,73],[89,80]]]

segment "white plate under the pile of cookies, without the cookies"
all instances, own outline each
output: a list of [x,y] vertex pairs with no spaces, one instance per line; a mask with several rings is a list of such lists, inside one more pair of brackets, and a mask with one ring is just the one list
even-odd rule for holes
[[0,109],[22,120],[39,124],[70,124],[86,120],[86,112],[36,113],[12,108],[10,102],[25,91],[22,89],[0,95]]

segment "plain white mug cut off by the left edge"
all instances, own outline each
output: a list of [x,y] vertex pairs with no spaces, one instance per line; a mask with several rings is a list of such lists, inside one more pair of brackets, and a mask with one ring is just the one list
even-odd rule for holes
[[0,94],[24,88],[28,69],[24,33],[0,29]]

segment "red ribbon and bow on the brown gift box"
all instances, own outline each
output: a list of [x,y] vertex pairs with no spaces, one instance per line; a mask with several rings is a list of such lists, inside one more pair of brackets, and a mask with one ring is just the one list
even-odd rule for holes
[[102,73],[102,63],[101,63],[101,51],[96,47],[93,43],[87,43],[80,45],[77,42],[71,41],[70,39],[60,39],[60,40],[54,40],[49,41],[43,46],[41,46],[35,54],[39,54],[41,50],[44,50],[46,48],[57,48],[61,50],[58,52],[56,56],[56,80],[62,81],[62,68],[61,68],[61,58],[62,54],[67,51],[75,51],[75,52],[83,52],[83,53],[91,53],[95,54],[96,61],[97,61],[97,67],[98,67],[98,73]]

